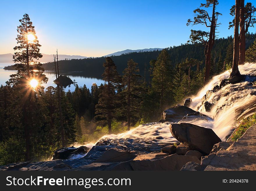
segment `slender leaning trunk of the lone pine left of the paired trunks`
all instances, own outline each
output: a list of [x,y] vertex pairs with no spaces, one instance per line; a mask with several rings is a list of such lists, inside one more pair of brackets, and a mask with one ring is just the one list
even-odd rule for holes
[[213,47],[214,40],[215,40],[215,4],[216,4],[216,0],[214,0],[213,8],[212,8],[211,28],[210,28],[208,48],[207,48],[206,58],[205,58],[205,84],[210,79],[211,48]]

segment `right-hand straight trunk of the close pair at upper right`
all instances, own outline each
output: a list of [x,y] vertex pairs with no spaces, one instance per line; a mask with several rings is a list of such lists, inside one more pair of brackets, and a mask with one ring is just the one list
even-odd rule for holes
[[239,41],[239,64],[245,62],[245,21],[244,21],[244,0],[240,0],[240,41]]

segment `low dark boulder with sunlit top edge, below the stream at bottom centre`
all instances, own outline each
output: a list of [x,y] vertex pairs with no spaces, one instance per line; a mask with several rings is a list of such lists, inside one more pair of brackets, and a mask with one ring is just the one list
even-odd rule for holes
[[106,162],[123,162],[134,159],[137,155],[131,154],[130,151],[124,151],[118,148],[112,148],[107,150],[100,156],[96,163],[106,163]]

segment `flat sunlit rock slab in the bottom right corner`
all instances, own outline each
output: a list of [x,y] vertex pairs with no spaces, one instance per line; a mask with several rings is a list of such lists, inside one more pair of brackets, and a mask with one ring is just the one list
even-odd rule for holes
[[226,150],[211,153],[202,159],[205,170],[256,170],[256,125]]

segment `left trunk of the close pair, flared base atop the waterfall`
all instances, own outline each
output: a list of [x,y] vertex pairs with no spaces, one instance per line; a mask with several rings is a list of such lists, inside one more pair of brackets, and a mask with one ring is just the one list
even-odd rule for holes
[[240,17],[240,3],[241,0],[236,0],[236,10],[235,10],[235,24],[234,24],[234,52],[233,52],[233,66],[232,72],[230,74],[230,79],[234,76],[240,75],[238,70],[239,63],[239,17]]

